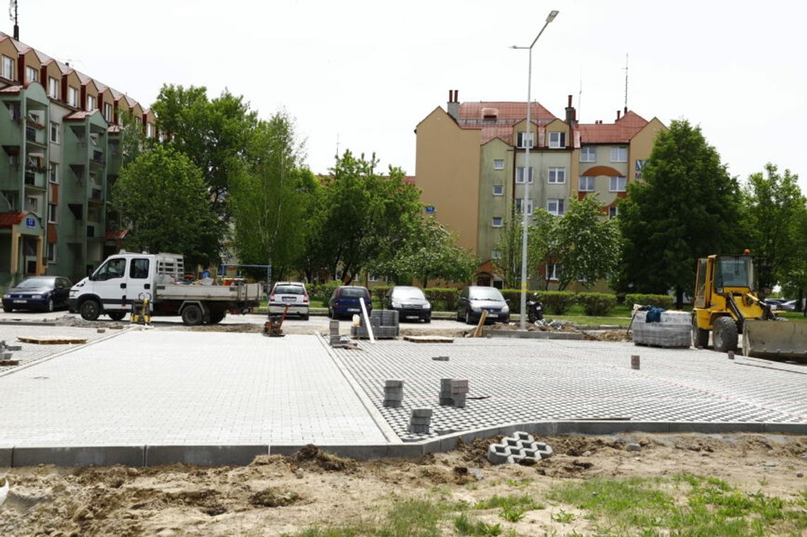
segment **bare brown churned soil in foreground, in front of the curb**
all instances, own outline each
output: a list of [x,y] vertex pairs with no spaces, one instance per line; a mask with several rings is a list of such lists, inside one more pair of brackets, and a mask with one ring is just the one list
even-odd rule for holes
[[[477,439],[420,460],[355,462],[311,447],[295,456],[261,456],[243,467],[0,468],[10,483],[0,506],[0,535],[295,535],[313,526],[377,520],[394,502],[410,498],[474,505],[495,494],[529,494],[545,505],[519,522],[505,522],[505,535],[588,534],[592,522],[574,506],[546,499],[551,487],[590,477],[678,472],[720,477],[784,500],[807,487],[807,436],[537,439],[554,448],[554,456],[529,467],[488,463],[491,439]],[[638,450],[630,451],[629,443]],[[558,522],[558,512],[578,516]],[[496,510],[479,516],[503,522]],[[444,535],[456,535],[454,528],[447,525]]]

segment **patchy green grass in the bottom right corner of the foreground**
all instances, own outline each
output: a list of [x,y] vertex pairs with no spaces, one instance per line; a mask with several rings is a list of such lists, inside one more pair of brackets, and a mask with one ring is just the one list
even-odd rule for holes
[[[807,492],[786,502],[746,493],[715,477],[596,478],[550,491],[550,498],[587,510],[599,531],[638,535],[798,535],[807,527]],[[558,513],[565,513],[559,511]],[[553,520],[562,522],[558,514]]]

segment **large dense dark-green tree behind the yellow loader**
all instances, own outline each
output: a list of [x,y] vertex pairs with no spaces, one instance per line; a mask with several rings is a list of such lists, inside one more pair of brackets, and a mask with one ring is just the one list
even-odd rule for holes
[[738,182],[700,127],[685,120],[659,132],[643,176],[628,185],[620,205],[625,246],[615,285],[641,293],[674,289],[680,306],[692,292],[699,257],[742,248]]

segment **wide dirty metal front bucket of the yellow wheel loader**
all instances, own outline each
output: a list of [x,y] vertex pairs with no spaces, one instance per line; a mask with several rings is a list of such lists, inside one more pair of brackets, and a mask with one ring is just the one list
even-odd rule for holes
[[742,354],[807,361],[807,323],[747,319],[743,323]]

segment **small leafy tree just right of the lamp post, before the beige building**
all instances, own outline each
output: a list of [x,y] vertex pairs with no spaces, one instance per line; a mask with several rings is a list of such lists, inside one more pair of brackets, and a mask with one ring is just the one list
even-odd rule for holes
[[596,195],[571,200],[569,210],[558,220],[557,241],[562,264],[558,288],[571,281],[591,285],[617,269],[621,235],[616,219],[604,218],[603,204]]

